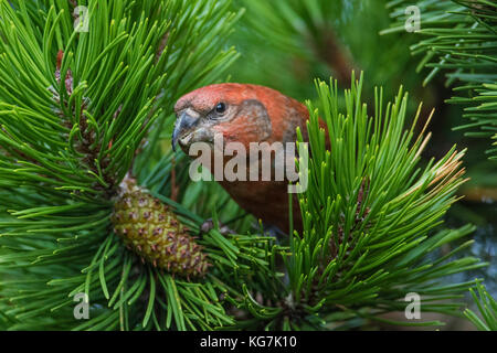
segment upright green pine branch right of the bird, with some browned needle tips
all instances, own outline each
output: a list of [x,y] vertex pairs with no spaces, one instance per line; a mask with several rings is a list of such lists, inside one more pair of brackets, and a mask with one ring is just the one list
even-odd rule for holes
[[[409,292],[421,296],[423,312],[458,315],[463,303],[457,299],[474,282],[448,285],[444,277],[485,266],[476,258],[452,259],[472,242],[436,255],[444,244],[475,229],[438,227],[465,182],[464,152],[452,149],[440,161],[419,167],[430,139],[426,127],[414,133],[421,107],[405,130],[408,95],[401,88],[384,105],[377,89],[374,115],[368,116],[362,84],[362,76],[352,81],[340,109],[338,82],[316,83],[318,106],[308,103],[309,184],[299,194],[304,231],[295,232],[292,255],[285,258],[289,292],[272,306],[250,303],[266,329],[322,330],[357,319],[379,321],[382,313],[403,311]],[[452,301],[445,303],[447,299]]]

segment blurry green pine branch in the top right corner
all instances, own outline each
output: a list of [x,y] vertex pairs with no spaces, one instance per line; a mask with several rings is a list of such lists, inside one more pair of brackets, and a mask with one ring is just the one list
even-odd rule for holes
[[[404,31],[404,9],[409,1],[391,1],[388,8],[395,23],[382,33]],[[456,129],[478,129],[468,137],[490,138],[487,151],[496,160],[497,113],[495,104],[497,51],[497,4],[486,0],[420,1],[422,29],[413,54],[424,54],[417,72],[429,68],[424,85],[445,73],[446,85],[454,86],[448,103],[464,106],[468,124]]]

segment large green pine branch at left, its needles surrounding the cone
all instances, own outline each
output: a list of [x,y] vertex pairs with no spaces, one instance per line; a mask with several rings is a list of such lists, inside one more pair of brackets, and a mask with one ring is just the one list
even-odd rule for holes
[[[199,242],[215,268],[188,281],[142,264],[110,216],[136,152],[149,162],[144,173],[152,168],[173,101],[236,57],[219,47],[237,15],[228,1],[80,3],[89,32],[73,30],[75,2],[0,2],[0,324],[231,325],[225,301],[241,302],[240,281],[258,269],[276,276],[268,264],[281,249],[271,239],[212,231]],[[198,233],[202,218],[158,196]],[[73,315],[81,292],[91,302],[84,322]]]

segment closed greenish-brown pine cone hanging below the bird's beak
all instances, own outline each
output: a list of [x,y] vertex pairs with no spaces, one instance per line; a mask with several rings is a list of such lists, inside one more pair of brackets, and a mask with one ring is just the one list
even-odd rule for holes
[[144,261],[187,277],[205,275],[210,264],[202,247],[175,213],[126,178],[114,205],[114,232]]

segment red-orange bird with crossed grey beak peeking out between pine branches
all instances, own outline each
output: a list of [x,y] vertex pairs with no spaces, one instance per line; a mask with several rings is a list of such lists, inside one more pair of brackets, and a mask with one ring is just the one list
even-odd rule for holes
[[[213,143],[218,133],[222,135],[224,143],[241,142],[247,151],[251,142],[295,142],[297,127],[307,135],[309,118],[302,103],[277,90],[247,84],[218,84],[195,89],[178,100],[175,111],[172,145],[179,145],[187,154],[192,143]],[[266,225],[288,232],[287,181],[220,183],[245,211]],[[300,211],[296,197],[294,200],[294,222],[299,228]]]

